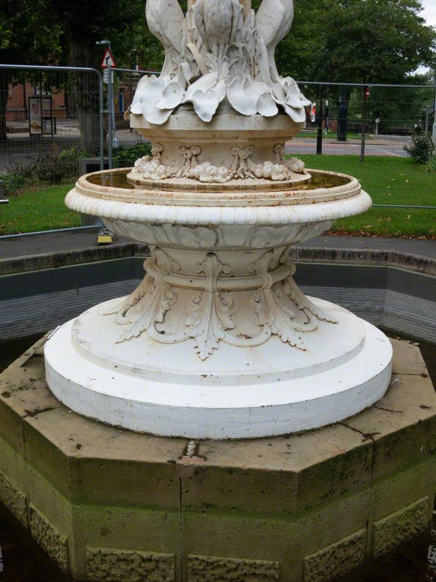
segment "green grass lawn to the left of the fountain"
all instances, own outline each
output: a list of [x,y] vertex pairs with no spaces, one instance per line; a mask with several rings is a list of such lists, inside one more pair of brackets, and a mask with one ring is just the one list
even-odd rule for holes
[[45,186],[9,197],[9,204],[0,204],[0,235],[80,226],[80,216],[63,202],[73,187]]

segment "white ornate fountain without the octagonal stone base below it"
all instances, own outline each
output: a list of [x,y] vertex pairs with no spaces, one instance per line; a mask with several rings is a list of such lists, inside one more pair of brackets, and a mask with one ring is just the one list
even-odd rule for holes
[[256,14],[197,0],[186,16],[148,0],[165,64],[127,117],[152,155],[83,176],[66,204],[151,257],[130,296],[47,343],[48,384],[70,409],[156,435],[250,438],[344,420],[387,390],[385,335],[293,278],[292,244],[371,206],[358,180],[285,155],[310,105],[274,62],[293,14],[291,0]]

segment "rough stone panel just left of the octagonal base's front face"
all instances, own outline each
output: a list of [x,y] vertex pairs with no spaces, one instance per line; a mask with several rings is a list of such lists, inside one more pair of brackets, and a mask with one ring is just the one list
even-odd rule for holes
[[31,503],[29,508],[30,533],[34,540],[45,549],[61,570],[69,566],[68,540],[55,526]]

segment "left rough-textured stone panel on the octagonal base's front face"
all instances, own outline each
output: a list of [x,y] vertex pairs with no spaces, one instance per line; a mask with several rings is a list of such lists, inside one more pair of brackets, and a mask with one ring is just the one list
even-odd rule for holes
[[86,551],[92,582],[173,582],[174,554],[113,548]]

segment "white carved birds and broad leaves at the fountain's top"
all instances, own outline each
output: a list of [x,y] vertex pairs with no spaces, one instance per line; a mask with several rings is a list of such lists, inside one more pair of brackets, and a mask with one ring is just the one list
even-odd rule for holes
[[263,0],[244,15],[239,0],[196,0],[186,15],[177,0],[147,0],[148,27],[165,47],[160,77],[142,77],[130,112],[162,124],[186,102],[209,122],[227,96],[242,115],[277,115],[280,106],[305,120],[310,101],[281,77],[274,52],[290,31],[292,0]]

